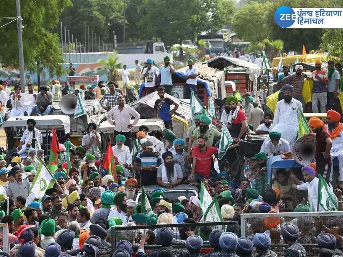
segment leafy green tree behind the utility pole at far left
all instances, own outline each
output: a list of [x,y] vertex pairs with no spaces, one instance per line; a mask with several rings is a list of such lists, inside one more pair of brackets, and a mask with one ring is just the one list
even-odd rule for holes
[[[25,70],[34,72],[47,68],[57,76],[64,74],[64,63],[59,36],[50,32],[55,28],[63,9],[70,0],[26,0],[21,5],[23,17],[23,51]],[[16,16],[15,1],[2,0],[1,7],[7,10],[2,15]],[[17,23],[12,22],[0,28],[2,47],[1,62],[4,67],[19,68]],[[37,66],[39,62],[40,68]]]

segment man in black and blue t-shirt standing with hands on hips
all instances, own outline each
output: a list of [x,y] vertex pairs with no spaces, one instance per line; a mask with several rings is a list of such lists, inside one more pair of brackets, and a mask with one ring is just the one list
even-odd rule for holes
[[[157,88],[157,94],[159,99],[155,101],[154,113],[155,118],[159,114],[161,120],[163,120],[166,129],[173,131],[173,124],[171,116],[176,112],[179,104],[174,102],[170,98],[164,97],[164,87]],[[174,105],[174,109],[170,111],[170,106]]]

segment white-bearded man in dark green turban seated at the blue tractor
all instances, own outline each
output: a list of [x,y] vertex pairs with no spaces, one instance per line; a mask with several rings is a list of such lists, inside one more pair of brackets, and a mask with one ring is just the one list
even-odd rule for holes
[[[281,132],[271,131],[269,132],[269,138],[270,140],[265,143],[265,152],[267,152],[268,157],[291,151],[288,141],[281,138]],[[263,152],[262,149],[261,152]]]

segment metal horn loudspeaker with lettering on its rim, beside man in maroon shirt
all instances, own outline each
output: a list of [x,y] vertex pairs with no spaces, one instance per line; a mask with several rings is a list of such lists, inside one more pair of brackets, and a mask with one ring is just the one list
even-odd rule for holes
[[292,154],[294,160],[302,166],[316,163],[316,138],[312,136],[303,136],[295,141]]

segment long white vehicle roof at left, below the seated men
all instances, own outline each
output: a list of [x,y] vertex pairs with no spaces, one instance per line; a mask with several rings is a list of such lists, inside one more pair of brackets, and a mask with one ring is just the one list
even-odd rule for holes
[[63,128],[66,134],[70,133],[70,118],[68,115],[46,115],[46,116],[22,116],[10,117],[3,122],[3,127],[26,127],[27,120],[34,119],[37,129],[45,130],[46,126]]

